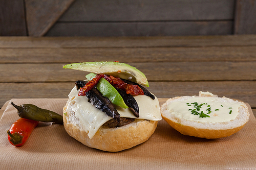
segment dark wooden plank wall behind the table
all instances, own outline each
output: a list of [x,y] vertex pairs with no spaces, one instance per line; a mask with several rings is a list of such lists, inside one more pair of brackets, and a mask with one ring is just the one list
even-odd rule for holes
[[256,0],[0,1],[0,36],[227,34],[256,34]]

